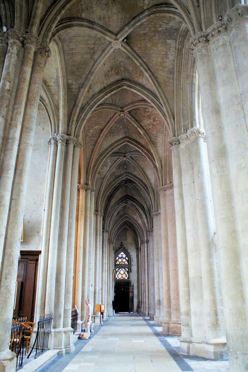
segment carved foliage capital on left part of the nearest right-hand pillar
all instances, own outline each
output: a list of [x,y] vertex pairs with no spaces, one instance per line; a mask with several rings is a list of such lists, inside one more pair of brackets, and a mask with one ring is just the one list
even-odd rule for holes
[[214,25],[210,26],[206,31],[198,32],[196,35],[190,38],[191,51],[194,51],[195,48],[199,47],[202,44],[209,43],[210,41],[215,39],[216,36],[219,36],[220,34],[226,31],[227,27],[225,21],[222,20],[217,23],[214,23]]

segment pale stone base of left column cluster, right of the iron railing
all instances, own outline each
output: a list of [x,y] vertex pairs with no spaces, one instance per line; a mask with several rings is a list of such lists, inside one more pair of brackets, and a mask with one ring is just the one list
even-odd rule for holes
[[75,349],[73,345],[73,328],[53,329],[53,349],[59,350],[58,355],[71,353]]

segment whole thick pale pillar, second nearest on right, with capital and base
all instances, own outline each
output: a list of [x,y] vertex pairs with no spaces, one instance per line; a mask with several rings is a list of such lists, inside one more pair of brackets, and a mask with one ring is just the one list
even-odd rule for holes
[[[225,339],[222,339],[219,321],[216,243],[204,137],[203,129],[193,128],[178,138],[181,142],[182,191],[190,278],[192,324],[190,353],[221,358],[225,356]],[[196,246],[199,250],[195,250]]]

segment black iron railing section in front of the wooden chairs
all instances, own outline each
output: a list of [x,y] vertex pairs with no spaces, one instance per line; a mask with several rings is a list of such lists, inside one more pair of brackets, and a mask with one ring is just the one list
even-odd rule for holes
[[23,350],[25,341],[25,323],[27,318],[13,319],[11,334],[10,334],[10,344],[9,348],[11,351],[16,353],[16,370],[23,367]]

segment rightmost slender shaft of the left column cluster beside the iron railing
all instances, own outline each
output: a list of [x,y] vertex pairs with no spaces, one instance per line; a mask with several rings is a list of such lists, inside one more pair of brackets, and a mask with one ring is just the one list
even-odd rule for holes
[[74,240],[75,240],[75,225],[76,225],[76,203],[77,203],[77,175],[79,164],[79,152],[82,148],[82,143],[74,141],[73,159],[71,167],[71,186],[70,186],[70,205],[68,219],[68,236],[67,236],[67,254],[66,254],[66,278],[64,291],[64,317],[63,327],[65,332],[65,351],[71,353],[75,349],[73,345],[73,331],[71,329],[71,302],[72,302],[72,287],[73,287],[73,263],[74,263]]

